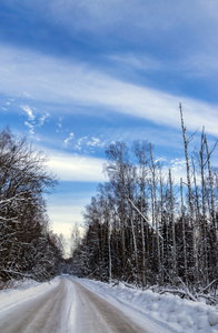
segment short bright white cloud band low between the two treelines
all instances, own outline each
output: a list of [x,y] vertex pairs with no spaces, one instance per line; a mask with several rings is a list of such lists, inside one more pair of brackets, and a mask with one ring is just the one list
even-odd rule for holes
[[75,157],[69,153],[49,152],[49,168],[61,181],[103,182],[103,159]]

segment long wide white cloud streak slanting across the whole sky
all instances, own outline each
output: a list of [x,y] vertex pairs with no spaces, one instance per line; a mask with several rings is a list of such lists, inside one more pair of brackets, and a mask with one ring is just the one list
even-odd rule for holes
[[[178,104],[182,102],[185,121],[190,130],[205,125],[208,133],[218,133],[216,104],[127,83],[82,63],[1,49],[0,63],[3,63],[3,69],[0,68],[0,92],[19,95],[28,88],[38,101],[70,107],[79,104],[85,109],[101,108],[101,112],[106,109],[176,129],[180,129]],[[30,119],[34,118],[28,105],[22,105],[22,109]],[[72,108],[65,110],[71,112]]]

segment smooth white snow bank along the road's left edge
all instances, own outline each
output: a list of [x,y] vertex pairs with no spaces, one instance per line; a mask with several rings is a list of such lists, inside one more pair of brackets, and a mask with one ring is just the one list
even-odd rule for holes
[[33,280],[16,282],[12,289],[0,291],[0,313],[31,299],[33,295],[39,295],[46,290],[54,287],[58,283],[59,278],[44,283],[36,282]]

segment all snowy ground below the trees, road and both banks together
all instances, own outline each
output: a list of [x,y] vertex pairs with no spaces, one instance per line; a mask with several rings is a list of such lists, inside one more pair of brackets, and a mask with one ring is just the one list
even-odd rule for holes
[[112,286],[71,276],[0,292],[1,333],[185,331],[217,333],[217,310],[121,283]]

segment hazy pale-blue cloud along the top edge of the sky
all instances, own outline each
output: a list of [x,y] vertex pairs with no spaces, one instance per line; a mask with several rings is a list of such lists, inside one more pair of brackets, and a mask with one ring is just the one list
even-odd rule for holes
[[[175,3],[168,0],[38,0],[38,8],[57,24],[63,26],[70,33],[89,31],[98,33],[117,32],[118,36],[136,38],[136,32],[152,30],[156,34],[176,29],[181,22],[195,27],[199,21],[210,23],[217,18],[218,4],[214,0],[184,0]],[[182,12],[182,16],[181,16]],[[200,19],[199,19],[200,18]],[[191,27],[192,27],[191,26]],[[123,29],[125,27],[125,29]],[[156,37],[157,38],[157,37]]]

